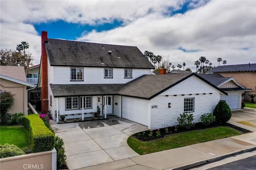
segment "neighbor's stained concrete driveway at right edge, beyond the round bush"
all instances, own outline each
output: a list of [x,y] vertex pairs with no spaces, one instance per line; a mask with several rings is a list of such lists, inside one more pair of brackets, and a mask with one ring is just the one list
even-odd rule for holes
[[232,117],[228,123],[256,132],[256,109],[244,107],[231,112]]

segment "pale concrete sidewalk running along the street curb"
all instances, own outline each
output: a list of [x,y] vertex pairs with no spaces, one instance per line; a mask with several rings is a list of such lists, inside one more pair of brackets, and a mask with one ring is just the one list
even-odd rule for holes
[[256,150],[256,132],[152,154],[134,156],[79,170],[186,169],[251,150]]

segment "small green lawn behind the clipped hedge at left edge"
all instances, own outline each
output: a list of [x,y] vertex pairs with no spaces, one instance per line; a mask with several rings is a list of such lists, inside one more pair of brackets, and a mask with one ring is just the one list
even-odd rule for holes
[[18,146],[24,151],[30,150],[30,135],[28,129],[15,126],[0,126],[0,144],[5,143]]

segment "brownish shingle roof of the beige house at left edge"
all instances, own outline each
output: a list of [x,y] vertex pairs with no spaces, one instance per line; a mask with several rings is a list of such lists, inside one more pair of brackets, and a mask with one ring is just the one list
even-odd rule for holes
[[20,66],[0,66],[0,74],[27,82],[24,67]]

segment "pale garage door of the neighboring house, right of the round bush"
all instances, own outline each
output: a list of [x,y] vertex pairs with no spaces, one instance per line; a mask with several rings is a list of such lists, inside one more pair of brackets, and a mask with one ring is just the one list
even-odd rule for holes
[[228,93],[228,96],[220,95],[220,100],[224,100],[230,109],[240,109],[239,93]]

